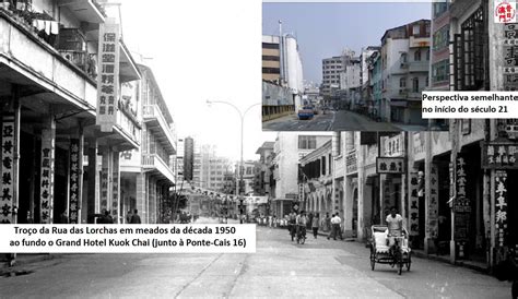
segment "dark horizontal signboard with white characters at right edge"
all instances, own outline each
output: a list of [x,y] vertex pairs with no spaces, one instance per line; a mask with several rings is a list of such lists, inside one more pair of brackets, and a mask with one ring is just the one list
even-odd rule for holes
[[482,168],[518,169],[516,143],[482,143]]

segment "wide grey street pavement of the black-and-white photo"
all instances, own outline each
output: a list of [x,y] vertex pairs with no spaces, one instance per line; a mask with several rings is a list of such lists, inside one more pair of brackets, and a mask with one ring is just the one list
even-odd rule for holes
[[256,253],[63,254],[0,277],[0,298],[510,298],[509,283],[425,259],[401,276],[389,265],[370,271],[368,253],[320,236],[297,244],[286,229],[258,226]]

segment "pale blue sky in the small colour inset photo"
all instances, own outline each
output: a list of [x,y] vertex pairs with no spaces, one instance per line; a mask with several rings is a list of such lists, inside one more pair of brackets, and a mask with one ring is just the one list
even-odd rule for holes
[[321,83],[321,61],[343,48],[360,55],[379,46],[386,29],[431,19],[431,3],[263,3],[262,34],[293,34],[298,41],[304,79]]

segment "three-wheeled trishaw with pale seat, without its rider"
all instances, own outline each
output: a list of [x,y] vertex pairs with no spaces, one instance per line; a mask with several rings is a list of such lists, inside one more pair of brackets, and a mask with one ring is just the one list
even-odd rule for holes
[[393,237],[396,239],[393,250],[390,249],[388,242],[387,226],[373,225],[370,231],[370,268],[374,271],[376,263],[380,263],[390,264],[392,267],[397,266],[399,275],[401,275],[403,265],[407,266],[407,271],[410,271],[412,258],[407,229],[403,228],[402,237]]

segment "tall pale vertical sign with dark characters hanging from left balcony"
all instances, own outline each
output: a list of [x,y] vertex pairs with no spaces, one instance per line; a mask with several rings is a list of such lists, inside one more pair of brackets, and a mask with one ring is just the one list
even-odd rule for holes
[[97,121],[102,132],[111,132],[117,121],[119,88],[119,25],[99,25]]

